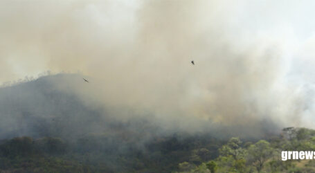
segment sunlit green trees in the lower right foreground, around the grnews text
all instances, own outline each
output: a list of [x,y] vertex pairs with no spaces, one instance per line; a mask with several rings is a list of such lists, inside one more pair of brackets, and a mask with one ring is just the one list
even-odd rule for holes
[[179,172],[315,172],[313,160],[281,160],[281,151],[314,151],[315,131],[288,127],[279,136],[255,143],[231,138],[219,148],[219,156],[196,165],[179,163]]

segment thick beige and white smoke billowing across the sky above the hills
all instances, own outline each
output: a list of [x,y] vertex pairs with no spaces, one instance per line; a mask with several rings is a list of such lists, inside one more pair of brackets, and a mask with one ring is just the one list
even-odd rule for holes
[[307,21],[307,3],[0,1],[0,7],[3,82],[46,70],[79,73],[89,84],[78,78],[54,87],[117,120],[145,118],[172,131],[254,136],[313,125],[307,93],[314,87],[300,78],[304,66],[312,71],[306,48],[315,23]]

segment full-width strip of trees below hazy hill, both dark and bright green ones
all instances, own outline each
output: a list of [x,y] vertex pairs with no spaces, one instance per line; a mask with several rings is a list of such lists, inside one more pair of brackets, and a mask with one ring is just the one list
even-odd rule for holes
[[286,128],[279,136],[244,142],[177,134],[143,145],[96,134],[12,138],[0,141],[0,172],[315,172],[313,160],[281,161],[282,150],[314,151],[315,131]]

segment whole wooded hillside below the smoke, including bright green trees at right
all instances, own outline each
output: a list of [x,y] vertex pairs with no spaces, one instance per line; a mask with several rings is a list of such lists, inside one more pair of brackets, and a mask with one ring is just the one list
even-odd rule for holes
[[49,75],[0,88],[0,172],[314,172],[281,150],[315,150],[312,129],[265,138],[163,131],[145,118],[118,121],[55,87]]

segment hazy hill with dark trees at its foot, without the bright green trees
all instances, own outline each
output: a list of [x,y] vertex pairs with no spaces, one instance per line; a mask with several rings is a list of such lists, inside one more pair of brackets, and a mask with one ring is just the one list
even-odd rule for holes
[[169,172],[199,146],[210,145],[207,158],[218,155],[222,141],[209,134],[163,132],[145,118],[122,122],[56,88],[71,80],[87,84],[60,74],[0,88],[1,170]]

